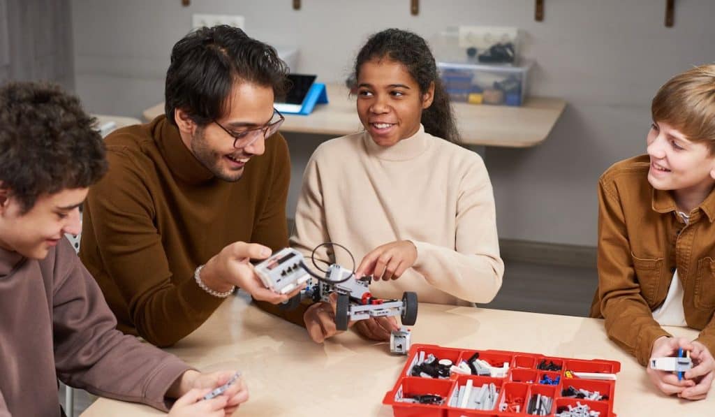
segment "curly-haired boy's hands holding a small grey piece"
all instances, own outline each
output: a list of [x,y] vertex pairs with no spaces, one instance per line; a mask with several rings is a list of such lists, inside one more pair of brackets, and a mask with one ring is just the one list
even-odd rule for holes
[[[172,407],[172,416],[203,416],[203,413],[189,413],[189,411],[205,411],[210,416],[231,416],[237,408],[248,401],[248,388],[242,378],[237,378],[226,391],[211,400],[202,400],[202,397],[213,389],[227,383],[235,371],[218,371],[213,373],[199,373],[189,370],[182,374],[167,391],[167,397],[179,398]],[[185,397],[185,398],[184,398]],[[203,405],[202,403],[209,403]],[[177,408],[179,405],[179,408]],[[177,408],[174,414],[174,408]],[[217,414],[209,414],[211,411],[220,411]]]

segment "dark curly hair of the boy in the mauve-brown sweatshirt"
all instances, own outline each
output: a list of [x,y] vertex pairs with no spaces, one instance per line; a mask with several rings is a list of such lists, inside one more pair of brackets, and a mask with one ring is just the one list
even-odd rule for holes
[[0,87],[0,187],[28,212],[40,195],[97,182],[107,160],[95,122],[54,84]]

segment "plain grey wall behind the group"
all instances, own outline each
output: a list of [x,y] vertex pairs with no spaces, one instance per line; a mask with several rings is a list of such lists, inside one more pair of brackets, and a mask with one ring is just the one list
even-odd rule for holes
[[[568,107],[546,142],[486,152],[501,237],[596,245],[596,181],[611,163],[644,152],[650,100],[671,75],[715,60],[715,1],[676,1],[664,27],[664,1],[547,0],[72,0],[77,92],[93,112],[138,117],[163,99],[169,51],[191,14],[242,14],[247,32],[300,48],[297,70],[342,80],[366,37],[386,27],[426,39],[459,24],[518,26],[523,54],[537,62],[533,94],[563,97]],[[300,174],[325,137],[289,135],[295,207]]]

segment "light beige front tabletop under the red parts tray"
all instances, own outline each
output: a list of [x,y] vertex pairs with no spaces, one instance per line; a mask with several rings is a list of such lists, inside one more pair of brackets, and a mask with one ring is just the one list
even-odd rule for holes
[[[694,337],[694,330],[669,328]],[[715,396],[681,401],[657,393],[644,368],[606,338],[603,321],[561,315],[420,304],[413,343],[501,349],[621,362],[614,411],[618,416],[711,416]],[[388,343],[343,333],[313,343],[305,329],[232,297],[194,333],[167,351],[202,371],[239,369],[250,400],[237,416],[392,416],[383,406],[405,356]],[[159,416],[138,404],[100,398],[84,417]]]

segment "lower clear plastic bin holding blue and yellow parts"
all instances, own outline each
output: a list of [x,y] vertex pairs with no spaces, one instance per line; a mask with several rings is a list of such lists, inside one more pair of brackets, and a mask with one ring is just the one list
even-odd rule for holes
[[440,78],[453,102],[521,106],[531,62],[520,66],[438,62]]

